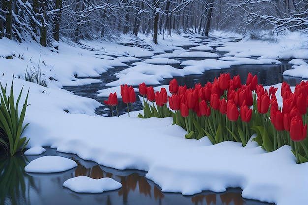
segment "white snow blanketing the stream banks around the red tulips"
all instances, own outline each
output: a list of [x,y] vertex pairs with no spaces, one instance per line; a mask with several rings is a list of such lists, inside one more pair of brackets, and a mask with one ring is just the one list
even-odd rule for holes
[[[8,39],[0,40],[0,82],[10,85],[14,77],[16,95],[22,87],[24,90],[29,88],[30,105],[25,123],[30,124],[23,136],[30,138],[27,148],[34,149],[28,154],[42,153],[44,150],[39,147],[48,146],[104,166],[144,170],[147,171],[146,177],[166,192],[192,195],[202,190],[223,192],[228,187],[241,187],[243,197],[249,199],[277,205],[306,204],[308,164],[296,164],[289,146],[266,153],[255,142],[242,147],[235,142],[212,145],[207,137],[185,139],[185,130],[172,125],[170,117],[141,119],[136,117],[138,112],[131,113],[130,118],[127,115],[119,118],[96,116],[95,108],[101,106],[100,103],[60,88],[97,83],[96,79],[79,80],[76,77],[96,77],[116,66],[126,66],[128,61],[137,62],[117,73],[118,80],[109,83],[111,88],[108,93],[124,83],[159,85],[163,78],[201,74],[209,69],[238,64],[278,64],[280,59],[290,59],[290,63],[294,64],[294,69],[284,74],[308,78],[308,37],[293,33],[277,39],[277,42],[245,38],[232,42],[229,37],[222,36],[202,42],[199,38],[174,35],[160,39],[159,45],[154,45],[151,37],[142,38],[154,51],[98,41],[85,41],[83,45],[60,42],[59,51],[51,51],[51,48],[40,47],[34,42],[20,44]],[[122,43],[126,42],[129,42],[129,37],[123,36]],[[198,46],[202,52],[185,50],[181,47],[183,45]],[[209,55],[213,47],[227,52],[225,57],[217,59],[216,55]],[[138,58],[155,53],[165,54],[148,61],[138,61]],[[168,58],[181,56],[207,59],[184,61],[182,65],[186,67],[183,69],[161,65],[177,63]],[[40,69],[48,88],[24,81],[26,69]],[[106,93],[100,92],[99,95]],[[281,103],[281,98],[277,98]],[[39,166],[32,169],[37,170]],[[74,190],[78,181],[73,181],[69,187]],[[92,183],[87,179],[80,181]],[[103,190],[110,188],[106,186]]]

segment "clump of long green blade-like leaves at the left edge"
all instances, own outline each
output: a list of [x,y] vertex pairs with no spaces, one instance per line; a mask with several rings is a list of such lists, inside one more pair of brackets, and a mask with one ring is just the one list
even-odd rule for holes
[[3,87],[0,83],[0,87],[0,129],[4,131],[3,135],[0,136],[0,145],[7,150],[7,154],[13,156],[17,151],[22,151],[29,142],[29,139],[27,140],[26,137],[21,138],[23,131],[29,124],[27,123],[23,126],[29,90],[19,116],[18,104],[21,99],[23,88],[19,93],[16,104],[14,104],[13,81],[10,96],[6,96],[7,84]]

